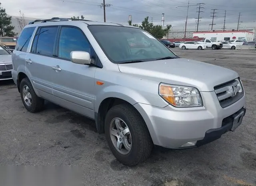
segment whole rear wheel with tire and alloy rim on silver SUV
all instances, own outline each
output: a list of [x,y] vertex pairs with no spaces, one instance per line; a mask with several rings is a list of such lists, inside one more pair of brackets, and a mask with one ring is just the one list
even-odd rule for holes
[[36,95],[28,78],[20,82],[20,97],[24,107],[31,113],[36,113],[44,107],[44,99]]

